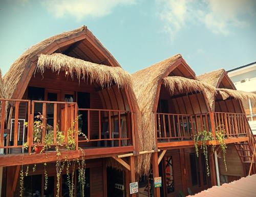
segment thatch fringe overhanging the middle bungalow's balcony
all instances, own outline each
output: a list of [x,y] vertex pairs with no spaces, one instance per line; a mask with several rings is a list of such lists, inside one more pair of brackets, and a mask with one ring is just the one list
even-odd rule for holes
[[170,94],[189,93],[189,92],[203,92],[207,91],[211,94],[216,94],[215,87],[195,79],[188,79],[185,77],[172,76],[163,79],[163,85],[167,87]]

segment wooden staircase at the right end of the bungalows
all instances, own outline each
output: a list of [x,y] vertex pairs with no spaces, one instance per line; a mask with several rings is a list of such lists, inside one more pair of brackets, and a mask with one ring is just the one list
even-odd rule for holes
[[247,122],[247,126],[248,126],[249,140],[234,144],[237,149],[240,160],[243,164],[245,176],[256,173],[256,152],[255,152],[256,142],[248,122]]

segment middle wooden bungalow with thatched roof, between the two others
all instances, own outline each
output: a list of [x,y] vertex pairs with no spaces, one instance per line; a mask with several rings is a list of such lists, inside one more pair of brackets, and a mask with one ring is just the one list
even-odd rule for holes
[[[194,136],[204,130],[214,136],[209,144],[218,144],[216,116],[208,102],[209,95],[217,94],[216,88],[197,80],[180,54],[132,76],[143,117],[140,151],[154,150],[152,155],[138,156],[138,166],[141,166],[139,195],[177,196],[216,185],[213,152],[207,158],[208,177],[203,152],[199,150],[197,157],[194,147]],[[238,137],[226,139],[225,143],[247,139],[246,136]],[[162,179],[161,187],[154,185],[158,177]]]

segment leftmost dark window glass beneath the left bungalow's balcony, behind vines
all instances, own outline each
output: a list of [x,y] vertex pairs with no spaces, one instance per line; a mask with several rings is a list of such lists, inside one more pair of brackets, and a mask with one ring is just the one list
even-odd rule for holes
[[24,177],[24,197],[40,197],[41,185],[41,174]]

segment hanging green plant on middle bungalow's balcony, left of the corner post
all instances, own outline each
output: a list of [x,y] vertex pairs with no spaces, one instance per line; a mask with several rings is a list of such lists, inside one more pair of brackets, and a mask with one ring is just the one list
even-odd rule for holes
[[[196,149],[196,154],[198,157],[198,142],[200,141],[201,143],[201,149],[203,149],[203,154],[205,157],[205,164],[206,164],[206,171],[207,171],[207,176],[210,175],[210,170],[209,170],[209,163],[208,163],[208,146],[207,142],[214,140],[214,136],[212,136],[211,132],[208,132],[207,130],[204,130],[203,132],[199,132],[194,136],[194,144],[195,144],[195,149]],[[215,146],[212,145],[212,151],[214,151]]]

